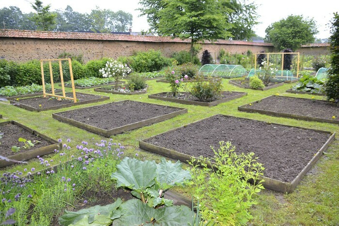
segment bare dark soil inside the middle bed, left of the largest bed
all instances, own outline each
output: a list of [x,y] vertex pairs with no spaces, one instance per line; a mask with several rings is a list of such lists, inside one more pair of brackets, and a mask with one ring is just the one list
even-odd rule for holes
[[120,101],[57,113],[101,129],[113,129],[178,111],[178,108],[136,101]]

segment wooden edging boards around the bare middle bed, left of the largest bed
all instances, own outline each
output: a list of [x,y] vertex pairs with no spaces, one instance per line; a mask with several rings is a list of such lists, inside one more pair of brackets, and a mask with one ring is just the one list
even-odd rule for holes
[[[118,101],[118,102],[113,102],[113,103],[120,103],[120,102],[124,102],[124,101]],[[138,102],[138,101],[133,101],[133,102],[143,103],[143,102]],[[110,104],[112,104],[112,103],[110,103]],[[149,104],[149,103],[143,103],[143,104]],[[103,104],[103,105],[108,105],[108,104]],[[103,106],[103,105],[96,105],[96,106]],[[149,105],[156,105],[156,104],[149,104]],[[166,105],[158,105],[158,106],[166,106]],[[126,131],[138,129],[138,128],[141,128],[141,127],[146,126],[146,125],[154,124],[156,122],[165,121],[165,120],[173,118],[177,115],[187,113],[187,108],[172,107],[172,106],[167,106],[167,107],[178,109],[178,110],[175,111],[175,112],[169,113],[169,114],[157,116],[157,117],[150,118],[150,119],[143,120],[143,121],[138,121],[138,122],[135,122],[135,123],[126,124],[126,125],[123,125],[123,126],[120,126],[120,127],[117,127],[117,128],[113,128],[113,129],[101,129],[101,128],[98,128],[96,126],[92,126],[92,125],[89,125],[89,124],[86,124],[86,123],[83,123],[83,122],[80,122],[80,121],[76,121],[76,120],[58,115],[60,113],[76,111],[76,110],[79,110],[79,109],[63,111],[63,112],[59,112],[59,113],[53,113],[52,117],[56,120],[59,120],[59,121],[65,122],[65,123],[69,123],[71,125],[74,125],[76,127],[79,127],[81,129],[84,129],[84,130],[87,130],[87,131],[90,131],[92,133],[99,134],[99,135],[106,136],[106,137],[110,137],[110,136],[113,136],[113,135],[116,135],[116,134],[121,134],[121,133],[126,132]],[[85,108],[82,108],[81,110],[83,111],[86,108],[88,109],[90,107],[85,107]],[[141,112],[141,114],[142,114],[142,112]]]

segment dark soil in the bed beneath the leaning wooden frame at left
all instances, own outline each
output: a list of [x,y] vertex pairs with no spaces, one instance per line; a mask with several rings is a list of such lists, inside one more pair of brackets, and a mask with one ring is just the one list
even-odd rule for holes
[[[58,95],[62,96],[62,94],[58,94]],[[73,93],[67,92],[66,96],[73,97]],[[85,94],[85,93],[79,93],[79,92],[76,93],[76,96],[77,96],[78,102],[98,99],[100,97],[100,95],[91,95],[91,94]],[[68,100],[68,99],[62,99],[61,101],[58,101],[56,97],[51,97],[51,96],[49,97],[47,96],[46,98],[40,96],[40,97],[27,98],[27,99],[19,99],[19,100],[15,100],[15,102],[21,103],[24,105],[29,105],[35,108],[46,108],[46,107],[51,107],[51,106],[74,103],[73,100]]]

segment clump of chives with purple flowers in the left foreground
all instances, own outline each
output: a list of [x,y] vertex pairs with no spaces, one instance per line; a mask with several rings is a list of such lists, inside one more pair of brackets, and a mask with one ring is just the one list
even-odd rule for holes
[[[63,158],[58,165],[54,165],[57,161],[53,159],[37,156],[43,170],[27,167],[0,175],[0,209],[15,208],[11,217],[17,225],[49,225],[53,216],[79,205],[79,199],[90,203],[91,197],[81,198],[85,191],[109,193],[115,189],[110,174],[123,157],[124,147],[120,143],[83,141],[73,149],[76,153],[71,155],[69,150],[72,149],[68,145],[55,150]],[[5,220],[5,212],[1,211],[0,222]]]

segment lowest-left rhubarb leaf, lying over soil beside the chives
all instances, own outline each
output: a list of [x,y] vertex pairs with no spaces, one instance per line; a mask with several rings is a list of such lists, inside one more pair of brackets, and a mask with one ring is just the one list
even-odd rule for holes
[[[110,225],[112,223],[111,216],[116,215],[117,209],[123,203],[123,201],[118,198],[114,203],[108,204],[106,206],[96,205],[88,209],[82,209],[77,212],[66,211],[61,217],[59,217],[59,224],[61,226],[68,225],[78,225],[78,222],[85,222],[83,218],[86,218],[87,225],[96,226],[99,222],[102,224],[99,225]],[[120,214],[121,215],[121,214]],[[120,217],[120,216],[118,216]]]

